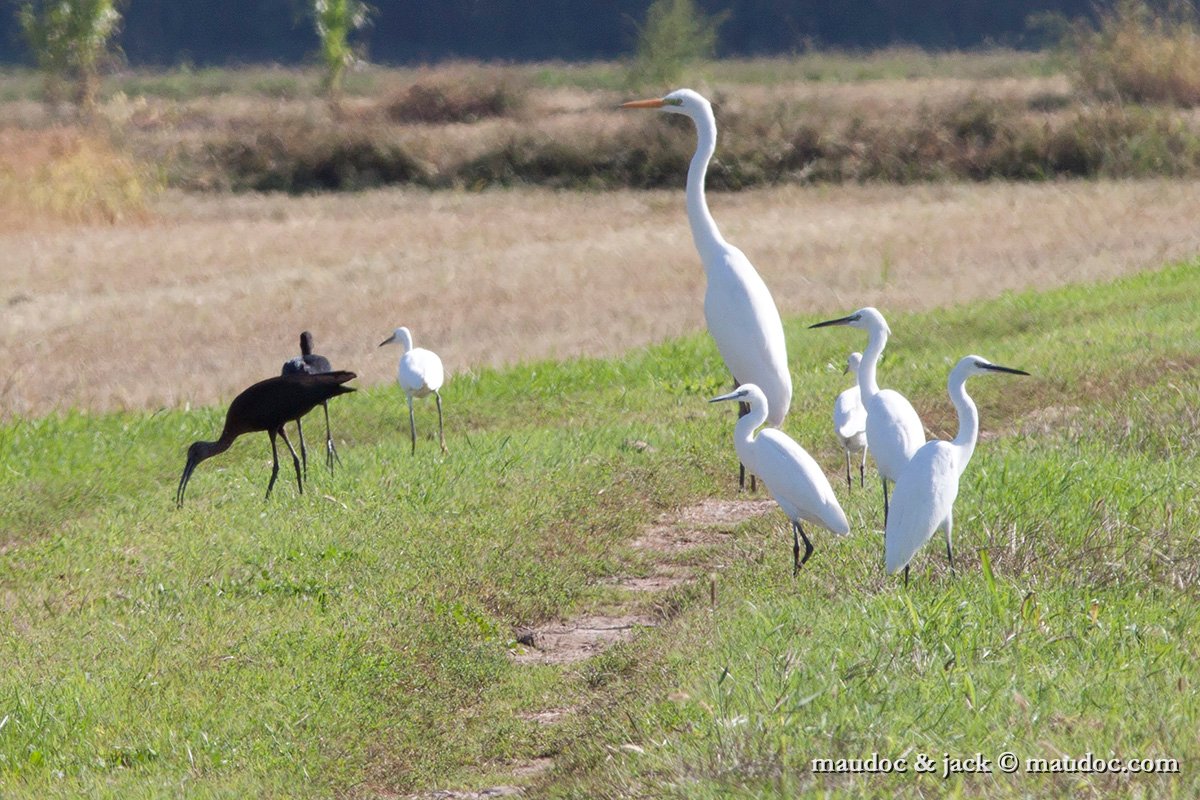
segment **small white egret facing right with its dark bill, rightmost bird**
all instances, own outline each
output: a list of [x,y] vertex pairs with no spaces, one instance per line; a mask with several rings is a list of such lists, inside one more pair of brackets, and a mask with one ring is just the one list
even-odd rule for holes
[[884,530],[884,564],[888,575],[895,575],[904,567],[906,584],[908,563],[937,529],[946,534],[946,558],[949,559],[950,569],[954,569],[954,552],[950,547],[954,499],[959,494],[959,479],[979,439],[979,411],[967,395],[966,383],[971,375],[989,372],[1030,374],[1021,369],[1000,367],[977,355],[960,360],[947,381],[950,399],[959,413],[959,434],[953,441],[935,439],[922,445],[896,481],[892,517]]

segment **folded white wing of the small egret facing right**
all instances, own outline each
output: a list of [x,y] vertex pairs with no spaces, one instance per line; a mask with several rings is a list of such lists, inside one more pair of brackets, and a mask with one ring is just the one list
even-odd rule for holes
[[948,441],[930,441],[917,451],[896,481],[883,533],[888,575],[902,570],[954,510],[959,470]]

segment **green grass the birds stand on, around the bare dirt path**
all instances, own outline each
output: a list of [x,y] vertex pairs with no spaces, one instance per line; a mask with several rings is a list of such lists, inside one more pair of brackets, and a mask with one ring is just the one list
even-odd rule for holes
[[[446,457],[432,405],[414,458],[394,387],[338,398],[344,468],[312,464],[298,497],[284,464],[265,503],[257,434],[172,507],[220,408],[10,423],[0,796],[372,796],[505,782],[542,754],[547,796],[1194,796],[1198,267],[889,320],[881,379],[943,434],[959,356],[1034,374],[970,385],[1000,435],[962,482],[958,575],[931,546],[907,590],[886,578],[869,486],[845,504],[851,536],[816,533],[797,579],[781,517],[748,523],[718,554],[715,609],[707,587],[678,590],[660,628],[572,667],[510,663],[515,628],[612,606],[601,582],[644,569],[641,528],[733,494],[706,336],[456,375]],[[787,429],[836,475],[845,380],[826,365],[863,342],[811,321],[787,324]],[[1079,408],[1039,427],[1051,407]],[[578,712],[517,716],[548,708]],[[1182,774],[809,770],[976,751],[1170,756]]]

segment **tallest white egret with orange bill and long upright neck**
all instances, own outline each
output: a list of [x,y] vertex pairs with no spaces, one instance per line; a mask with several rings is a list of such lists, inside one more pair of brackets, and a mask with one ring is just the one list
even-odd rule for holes
[[[713,106],[690,89],[678,89],[656,100],[638,100],[622,108],[656,108],[683,114],[696,125],[696,152],[688,167],[688,222],[691,239],[704,263],[704,320],[716,342],[734,387],[755,384],[767,398],[767,423],[779,427],[792,404],[792,375],[787,371],[784,323],[762,277],[745,254],[725,241],[708,212],[704,175],[716,151]],[[746,408],[740,408],[746,414]],[[754,486],[751,470],[751,487]],[[745,464],[739,485],[745,487]]]

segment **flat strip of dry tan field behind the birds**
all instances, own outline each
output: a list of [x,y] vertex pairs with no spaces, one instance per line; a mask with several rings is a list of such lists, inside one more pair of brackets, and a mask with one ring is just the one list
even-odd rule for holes
[[[1190,181],[776,187],[710,203],[785,314],[930,308],[1200,249]],[[168,192],[124,222],[0,231],[0,285],[5,415],[212,403],[275,374],[305,327],[374,384],[395,366],[376,344],[401,324],[451,373],[703,326],[682,187]]]

